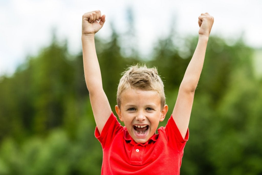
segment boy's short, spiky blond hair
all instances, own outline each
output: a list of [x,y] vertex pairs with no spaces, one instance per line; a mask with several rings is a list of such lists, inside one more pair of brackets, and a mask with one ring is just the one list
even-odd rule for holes
[[139,64],[130,66],[122,73],[117,88],[117,105],[121,105],[121,94],[127,89],[140,89],[145,91],[156,91],[161,100],[161,109],[166,104],[164,84],[155,67],[148,68]]

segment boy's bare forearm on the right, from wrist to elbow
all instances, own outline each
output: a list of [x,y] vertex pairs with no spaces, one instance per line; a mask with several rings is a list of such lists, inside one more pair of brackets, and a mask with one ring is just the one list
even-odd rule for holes
[[199,35],[198,44],[185,71],[180,89],[195,91],[203,68],[207,43],[208,36]]

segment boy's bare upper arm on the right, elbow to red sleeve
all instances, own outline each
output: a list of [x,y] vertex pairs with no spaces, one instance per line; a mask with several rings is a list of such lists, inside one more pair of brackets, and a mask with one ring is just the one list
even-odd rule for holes
[[179,88],[172,115],[183,138],[185,138],[187,133],[193,100],[194,91]]

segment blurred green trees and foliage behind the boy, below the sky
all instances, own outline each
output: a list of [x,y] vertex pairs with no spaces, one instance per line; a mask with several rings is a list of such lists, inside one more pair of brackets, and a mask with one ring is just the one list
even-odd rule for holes
[[[146,62],[164,80],[170,116],[197,38],[170,34],[159,40],[151,59],[140,58],[134,48],[123,56],[119,40],[115,31],[110,41],[96,38],[112,110],[121,72]],[[181,174],[262,173],[262,79],[254,76],[253,52],[241,39],[228,45],[210,38]],[[0,99],[0,174],[100,174],[102,148],[94,137],[82,54],[70,55],[66,44],[53,40],[12,77],[0,78]]]

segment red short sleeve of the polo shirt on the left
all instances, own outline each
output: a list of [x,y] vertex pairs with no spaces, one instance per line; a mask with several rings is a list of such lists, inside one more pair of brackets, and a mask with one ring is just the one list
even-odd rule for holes
[[116,116],[111,113],[108,118],[101,134],[99,133],[97,127],[95,129],[95,137],[100,141],[103,148],[110,146],[114,137],[117,133],[123,130],[123,126],[117,121]]

